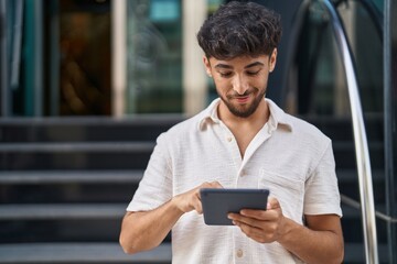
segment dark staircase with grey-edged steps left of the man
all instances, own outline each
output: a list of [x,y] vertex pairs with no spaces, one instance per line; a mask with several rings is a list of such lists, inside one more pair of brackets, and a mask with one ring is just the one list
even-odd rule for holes
[[121,219],[157,136],[181,116],[0,119],[0,263],[171,263],[127,255]]

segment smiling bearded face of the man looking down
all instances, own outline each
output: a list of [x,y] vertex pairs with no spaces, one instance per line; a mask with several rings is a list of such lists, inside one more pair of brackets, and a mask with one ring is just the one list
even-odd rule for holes
[[266,94],[269,73],[276,65],[277,50],[270,56],[236,57],[219,61],[204,57],[216,91],[229,112],[239,118],[251,116]]

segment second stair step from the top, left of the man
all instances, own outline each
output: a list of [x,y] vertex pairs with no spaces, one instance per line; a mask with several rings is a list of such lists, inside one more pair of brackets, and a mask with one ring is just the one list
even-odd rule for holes
[[0,144],[0,170],[142,169],[154,142]]

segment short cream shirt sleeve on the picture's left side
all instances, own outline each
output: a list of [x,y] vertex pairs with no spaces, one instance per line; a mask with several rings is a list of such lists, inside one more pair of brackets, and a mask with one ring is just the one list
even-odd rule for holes
[[172,170],[167,136],[161,134],[127,211],[148,211],[172,198]]

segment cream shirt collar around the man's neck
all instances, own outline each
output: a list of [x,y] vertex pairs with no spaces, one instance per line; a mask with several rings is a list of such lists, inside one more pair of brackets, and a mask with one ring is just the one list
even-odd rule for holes
[[[289,131],[292,131],[292,122],[288,118],[288,114],[279,108],[272,100],[265,99],[269,106],[270,116],[268,125],[271,131],[276,130],[279,125],[280,128],[286,128]],[[207,125],[219,123],[221,120],[217,116],[217,107],[221,102],[219,98],[213,100],[210,106],[202,112],[202,117],[198,119],[198,130],[203,131]]]

